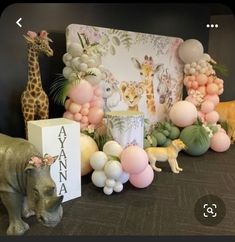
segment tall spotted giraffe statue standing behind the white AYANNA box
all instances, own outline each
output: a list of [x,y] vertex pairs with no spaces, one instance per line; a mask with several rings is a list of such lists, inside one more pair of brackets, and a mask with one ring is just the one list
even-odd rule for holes
[[39,34],[28,31],[24,38],[28,44],[28,82],[21,95],[21,108],[23,112],[26,138],[27,122],[36,119],[47,119],[49,117],[49,100],[42,88],[38,56],[44,53],[47,56],[53,55],[49,46],[52,42],[48,33],[43,30]]

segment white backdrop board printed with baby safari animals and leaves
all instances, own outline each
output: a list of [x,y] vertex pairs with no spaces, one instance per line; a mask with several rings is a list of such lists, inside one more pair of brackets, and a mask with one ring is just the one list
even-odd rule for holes
[[183,63],[177,54],[182,39],[71,24],[67,47],[80,43],[78,33],[103,47],[106,112],[140,111],[154,123],[168,117],[172,104],[182,99]]

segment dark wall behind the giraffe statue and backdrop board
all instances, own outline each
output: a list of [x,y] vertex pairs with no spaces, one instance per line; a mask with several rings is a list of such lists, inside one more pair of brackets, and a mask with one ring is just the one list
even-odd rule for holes
[[[220,4],[15,4],[0,19],[0,132],[24,136],[20,95],[27,82],[27,30],[47,30],[53,39],[54,56],[41,57],[40,67],[45,91],[63,68],[65,29],[71,23],[99,27],[195,38],[208,48],[208,29],[213,14],[231,14]],[[15,22],[22,17],[22,28]],[[64,108],[50,98],[50,118],[61,117]]]

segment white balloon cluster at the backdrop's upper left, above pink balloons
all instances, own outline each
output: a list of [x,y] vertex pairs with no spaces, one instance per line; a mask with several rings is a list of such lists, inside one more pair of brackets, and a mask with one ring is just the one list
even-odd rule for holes
[[78,43],[67,45],[67,53],[63,55],[63,62],[66,65],[63,76],[71,82],[79,77],[91,85],[97,85],[104,78],[104,67],[101,65],[102,47],[98,43],[87,42],[82,35],[79,36]]

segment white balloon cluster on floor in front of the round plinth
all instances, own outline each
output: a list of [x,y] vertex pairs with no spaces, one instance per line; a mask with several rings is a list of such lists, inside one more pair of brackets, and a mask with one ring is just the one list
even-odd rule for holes
[[129,174],[122,169],[118,161],[122,147],[116,141],[108,141],[103,151],[95,152],[90,158],[90,165],[94,169],[91,180],[97,187],[102,188],[106,195],[121,192],[123,184],[129,180]]

